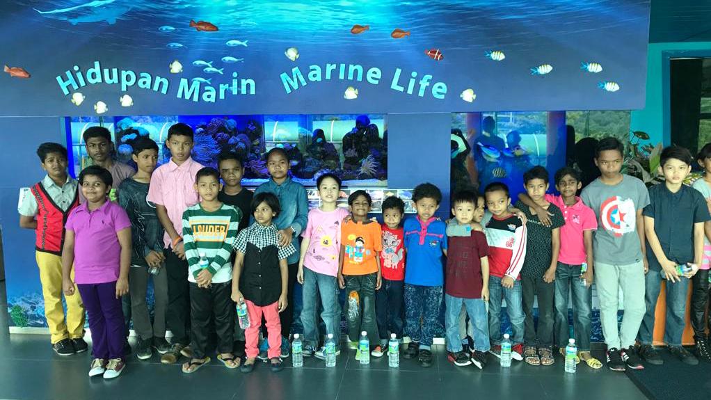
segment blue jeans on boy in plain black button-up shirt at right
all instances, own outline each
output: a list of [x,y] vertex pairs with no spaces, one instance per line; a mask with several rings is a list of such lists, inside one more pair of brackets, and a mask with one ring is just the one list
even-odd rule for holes
[[[642,325],[639,327],[637,339],[643,345],[652,344],[654,333],[654,312],[657,308],[657,299],[661,291],[662,281],[659,271],[649,270],[644,276],[644,303],[647,312],[642,318]],[[664,328],[664,342],[670,347],[681,345],[681,335],[684,333],[686,321],[684,319],[686,311],[686,295],[689,291],[689,280],[682,277],[679,282],[666,281],[666,324]]]

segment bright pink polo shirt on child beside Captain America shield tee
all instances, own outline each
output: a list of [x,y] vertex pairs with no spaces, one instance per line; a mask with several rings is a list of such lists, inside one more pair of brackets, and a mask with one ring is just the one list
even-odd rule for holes
[[565,225],[560,228],[560,255],[563,264],[580,265],[587,262],[583,232],[597,229],[597,218],[592,208],[576,197],[574,205],[565,205],[562,196],[545,195],[545,200],[560,208]]

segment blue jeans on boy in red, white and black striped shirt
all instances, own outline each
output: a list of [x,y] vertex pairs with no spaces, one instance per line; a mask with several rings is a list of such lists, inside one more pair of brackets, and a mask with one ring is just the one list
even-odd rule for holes
[[506,298],[506,313],[511,321],[513,345],[523,343],[523,294],[521,281],[513,281],[513,288],[501,286],[501,278],[489,276],[489,337],[492,345],[501,345],[501,300]]

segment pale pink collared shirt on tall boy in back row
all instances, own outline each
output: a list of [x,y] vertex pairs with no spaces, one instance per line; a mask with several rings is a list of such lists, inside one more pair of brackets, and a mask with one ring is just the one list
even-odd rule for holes
[[[171,158],[171,161],[156,168],[151,175],[151,185],[146,200],[166,207],[173,227],[181,236],[183,211],[196,205],[200,200],[193,185],[195,185],[195,175],[202,168],[203,166],[193,161],[191,157],[179,166]],[[171,246],[172,241],[168,232],[164,235],[163,242],[166,249]]]

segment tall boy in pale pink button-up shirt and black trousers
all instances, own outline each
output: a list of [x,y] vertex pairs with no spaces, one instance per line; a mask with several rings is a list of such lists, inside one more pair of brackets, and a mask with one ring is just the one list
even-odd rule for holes
[[[168,313],[166,322],[173,333],[171,351],[161,357],[164,364],[173,364],[180,355],[191,357],[190,344],[190,285],[188,262],[183,247],[183,212],[196,205],[198,193],[194,189],[195,176],[203,166],[193,161],[193,129],[182,123],[168,129],[166,147],[171,161],[156,168],[151,175],[146,200],[156,205],[156,214],[166,230],[163,235],[166,272],[168,273]],[[186,348],[187,347],[187,348]]]

